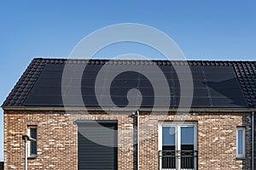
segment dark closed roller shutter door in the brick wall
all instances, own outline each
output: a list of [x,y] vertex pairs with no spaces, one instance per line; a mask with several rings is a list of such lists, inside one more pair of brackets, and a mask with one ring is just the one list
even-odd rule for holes
[[[79,126],[79,170],[117,170],[117,147],[109,146],[117,145],[117,121],[98,121],[98,123],[78,121],[77,123]],[[86,135],[89,139],[86,138]],[[103,141],[108,146],[97,144],[97,142],[91,141],[91,138],[96,139],[96,141]]]

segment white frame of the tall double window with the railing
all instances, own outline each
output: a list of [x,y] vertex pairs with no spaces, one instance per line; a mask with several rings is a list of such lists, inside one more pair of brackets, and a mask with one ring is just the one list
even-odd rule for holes
[[[158,123],[158,148],[159,150],[162,150],[162,127],[176,127],[177,130],[180,130],[181,127],[194,127],[194,150],[197,150],[197,143],[198,143],[198,134],[197,134],[197,122],[159,122]],[[176,144],[176,150],[180,150],[180,138],[181,138],[181,133],[177,133],[175,135],[177,144]],[[198,159],[198,158],[197,158]],[[160,169],[164,170],[161,165],[161,161],[159,163]],[[180,167],[180,162],[177,162],[177,167],[176,169],[181,169]],[[197,169],[197,164],[195,162],[195,168]],[[168,169],[169,170],[169,169]],[[172,170],[172,169],[170,169]],[[190,170],[190,169],[189,169]]]

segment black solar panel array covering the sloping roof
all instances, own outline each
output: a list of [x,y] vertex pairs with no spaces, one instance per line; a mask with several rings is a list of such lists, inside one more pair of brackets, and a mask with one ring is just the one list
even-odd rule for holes
[[[116,72],[118,76],[114,77],[110,87],[107,87],[105,82],[109,81],[109,73],[116,71],[116,68],[124,67],[107,65],[105,77],[101,80],[102,86],[98,87],[96,77],[103,65],[86,65],[85,68],[84,65],[67,65],[66,78],[62,83],[64,88],[61,89],[64,66],[47,64],[24,105],[63,106],[64,95],[69,106],[124,107],[142,104],[142,107],[152,107],[164,106],[166,101],[169,101],[170,107],[177,107],[183,103],[181,99],[191,99],[189,93],[181,93],[182,89],[183,92],[194,93],[192,107],[247,107],[232,66],[191,66],[190,73],[184,66],[159,65],[160,71],[166,77],[164,80],[154,71],[155,65],[134,65],[136,70],[150,75],[151,80],[139,71]],[[193,83],[189,77],[193,78]],[[151,82],[156,82],[157,87],[153,88]],[[168,87],[165,86],[165,82]],[[132,88],[140,93],[133,93],[127,99],[127,94]],[[143,98],[140,98],[139,94],[142,94]],[[80,99],[83,99],[82,103]],[[158,101],[157,105],[155,101]]]

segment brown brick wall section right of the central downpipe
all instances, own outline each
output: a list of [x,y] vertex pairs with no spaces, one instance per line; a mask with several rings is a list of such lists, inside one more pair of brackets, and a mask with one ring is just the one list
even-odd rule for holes
[[[159,162],[157,150],[155,150],[158,148],[157,124],[164,120],[172,122],[174,119],[175,116],[140,117],[141,128],[147,132],[154,132],[140,144],[141,169],[158,168]],[[187,116],[185,120],[197,122],[199,169],[251,169],[252,142],[251,116],[249,114],[199,113]],[[148,122],[150,123],[148,124]],[[244,160],[236,159],[236,127],[246,127],[247,153]],[[147,134],[147,132],[143,134]]]

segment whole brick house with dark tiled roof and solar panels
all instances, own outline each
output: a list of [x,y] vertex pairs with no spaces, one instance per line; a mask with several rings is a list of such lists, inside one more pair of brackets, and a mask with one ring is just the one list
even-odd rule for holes
[[[96,86],[103,65],[106,75],[129,65],[160,83],[125,71]],[[182,99],[192,102],[186,116]],[[23,169],[24,134],[37,139],[28,169],[253,169],[254,61],[33,59],[2,107],[5,169]]]

